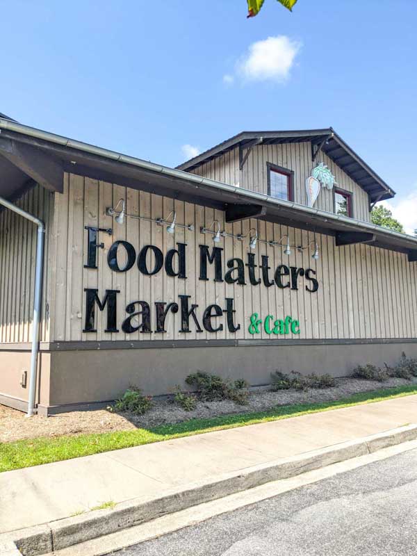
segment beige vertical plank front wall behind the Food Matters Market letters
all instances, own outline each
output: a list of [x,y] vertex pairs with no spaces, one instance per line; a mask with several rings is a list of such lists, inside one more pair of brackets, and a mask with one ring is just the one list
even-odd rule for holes
[[[228,179],[233,178],[226,166],[222,181]],[[172,236],[167,234],[166,227],[130,218],[126,218],[122,225],[117,224],[106,215],[106,207],[115,206],[119,199],[125,199],[127,213],[147,218],[167,218],[170,211],[175,210],[177,222],[193,224],[195,231],[177,228]],[[298,291],[277,286],[267,288],[263,284],[250,286],[247,283],[239,286],[224,281],[215,282],[213,265],[208,265],[210,279],[199,280],[199,245],[214,245],[213,236],[201,234],[199,229],[201,226],[209,227],[213,219],[219,220],[222,230],[233,234],[247,234],[251,227],[258,227],[259,238],[264,240],[279,240],[284,234],[289,234],[292,245],[307,245],[316,240],[320,250],[318,261],[311,259],[309,250],[302,253],[293,250],[291,256],[286,256],[280,248],[262,243],[256,245],[254,253],[257,264],[261,263],[263,254],[268,254],[271,275],[281,263],[313,268],[320,284],[318,292],[306,291],[307,282],[304,279],[300,279]],[[105,233],[99,236],[99,242],[103,242],[105,248],[97,250],[98,270],[83,268],[87,248],[85,225],[113,228],[113,236]],[[297,318],[300,320],[301,333],[287,337],[300,340],[417,337],[417,263],[409,263],[405,254],[370,245],[336,247],[331,236],[315,237],[311,232],[270,222],[244,220],[225,224],[224,213],[212,208],[72,174],[65,175],[63,195],[55,195],[54,226],[59,233],[51,242],[50,255],[51,261],[54,261],[51,263],[52,268],[55,269],[51,281],[56,284],[54,292],[51,292],[51,341],[279,338],[268,336],[265,332],[252,336],[247,327],[253,312],[263,318],[268,314],[276,318],[286,315]],[[6,242],[10,241],[10,237],[8,234]],[[176,247],[177,242],[186,243],[188,279],[168,277],[164,270],[154,276],[145,276],[139,272],[137,265],[127,272],[112,272],[106,259],[109,247],[117,239],[129,241],[135,247],[136,254],[144,245],[153,244],[165,255],[167,250]],[[231,258],[239,257],[247,262],[247,253],[250,252],[247,239],[222,238],[222,243],[217,245],[224,249],[223,272],[225,263]],[[9,271],[6,276],[10,276]],[[4,288],[3,284],[2,278],[1,285]],[[6,285],[6,291],[8,287]],[[229,333],[227,327],[222,332],[197,333],[191,320],[192,332],[181,334],[179,313],[170,313],[166,319],[167,332],[164,334],[124,334],[121,328],[117,333],[105,333],[106,311],[97,309],[97,333],[85,334],[82,332],[85,287],[98,288],[101,299],[106,288],[120,290],[117,298],[119,328],[127,316],[124,309],[129,302],[148,302],[152,310],[152,327],[155,327],[154,302],[178,302],[179,294],[190,295],[190,301],[199,305],[197,314],[200,322],[208,304],[217,303],[224,308],[224,297],[234,297],[235,319],[241,328],[236,334]],[[14,309],[7,311],[7,314],[15,314]],[[3,334],[6,334],[6,338],[12,337],[10,332],[3,331]]]

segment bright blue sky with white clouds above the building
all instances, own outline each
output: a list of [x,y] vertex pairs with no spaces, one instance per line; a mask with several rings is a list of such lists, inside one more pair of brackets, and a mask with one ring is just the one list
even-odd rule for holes
[[333,126],[417,227],[414,0],[0,8],[0,111],[19,122],[170,166],[243,130]]

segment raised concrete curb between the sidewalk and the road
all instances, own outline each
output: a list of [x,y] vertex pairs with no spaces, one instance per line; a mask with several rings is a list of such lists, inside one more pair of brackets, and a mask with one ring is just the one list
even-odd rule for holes
[[[245,468],[243,471],[218,475],[215,480],[190,483],[165,491],[162,498],[140,497],[117,504],[115,509],[102,509],[73,516],[44,525],[16,530],[0,535],[1,554],[38,556],[61,550],[105,534],[140,525],[145,521],[179,512],[202,502],[222,498],[239,491],[252,489],[266,482],[294,477],[306,471],[336,464],[353,457],[367,455],[382,448],[417,439],[417,425],[407,425],[387,432],[365,436],[294,457],[269,461]],[[12,551],[12,545],[13,550]],[[7,550],[6,550],[7,548]]]

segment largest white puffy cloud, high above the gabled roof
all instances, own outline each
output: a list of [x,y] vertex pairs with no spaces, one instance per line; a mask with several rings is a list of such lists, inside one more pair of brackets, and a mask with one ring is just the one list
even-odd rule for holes
[[286,35],[253,42],[236,64],[236,75],[243,81],[275,81],[288,79],[301,42]]

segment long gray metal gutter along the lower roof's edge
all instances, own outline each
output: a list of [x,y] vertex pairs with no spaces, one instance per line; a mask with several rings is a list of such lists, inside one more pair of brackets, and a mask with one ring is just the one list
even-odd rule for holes
[[[406,240],[412,244],[415,249],[417,245],[417,238],[414,236],[409,236],[408,234],[402,234],[399,231],[390,230],[387,228],[382,228],[376,224],[370,222],[363,222],[361,220],[355,220],[354,218],[347,218],[343,215],[338,215],[334,213],[329,213],[327,211],[321,211],[318,208],[311,208],[309,206],[297,204],[294,202],[285,201],[284,199],[276,199],[275,197],[270,197],[264,193],[256,193],[248,189],[243,189],[238,186],[231,186],[227,183],[221,183],[220,181],[215,181],[213,179],[204,178],[198,176],[197,174],[189,174],[183,170],[176,170],[161,164],[155,164],[148,161],[143,161],[140,158],[135,158],[134,156],[126,156],[121,153],[117,153],[108,149],[102,149],[101,147],[95,147],[94,145],[89,145],[81,141],[72,140],[63,136],[56,135],[55,133],[49,133],[47,131],[42,131],[40,129],[35,129],[33,127],[24,126],[18,124],[17,122],[11,122],[10,120],[4,120],[0,118],[0,131],[1,129],[8,129],[10,131],[15,131],[16,133],[22,133],[26,136],[33,138],[42,139],[49,142],[54,142],[63,147],[69,147],[70,149],[77,149],[83,152],[88,152],[90,154],[95,154],[96,156],[103,156],[104,158],[110,158],[113,161],[120,163],[130,164],[142,168],[143,170],[148,170],[150,172],[156,172],[160,174],[165,174],[172,177],[173,179],[186,180],[195,184],[195,188],[199,188],[200,185],[206,186],[208,188],[213,188],[213,190],[223,190],[228,193],[234,193],[239,197],[242,197],[244,201],[249,202],[251,199],[253,202],[261,203],[272,203],[276,206],[286,206],[288,208],[296,208],[297,211],[303,211],[304,213],[309,213],[317,215],[318,218],[324,218],[325,220],[332,220],[334,222],[343,222],[347,226],[360,227],[361,229],[366,229],[369,231],[377,232],[382,236],[395,237],[398,239]],[[336,136],[336,133],[335,133]]]

